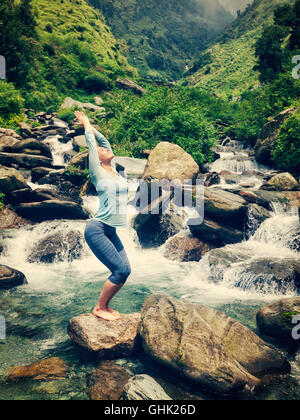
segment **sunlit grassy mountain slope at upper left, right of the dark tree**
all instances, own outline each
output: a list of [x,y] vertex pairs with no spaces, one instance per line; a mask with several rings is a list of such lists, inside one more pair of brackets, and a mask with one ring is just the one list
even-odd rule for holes
[[26,107],[55,111],[66,95],[80,99],[118,76],[137,75],[102,13],[86,0],[32,0],[31,7],[38,37],[34,71],[19,86]]

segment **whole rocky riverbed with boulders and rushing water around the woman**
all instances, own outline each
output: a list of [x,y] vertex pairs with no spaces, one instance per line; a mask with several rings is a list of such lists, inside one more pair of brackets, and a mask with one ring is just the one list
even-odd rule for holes
[[[1,398],[297,397],[298,179],[232,139],[203,168],[167,142],[148,160],[118,158],[133,273],[115,299],[127,315],[108,331],[88,315],[107,270],[83,240],[97,207],[83,133],[55,114],[31,118],[40,125],[0,129]],[[140,181],[165,179],[201,180],[203,223],[172,190],[159,190],[157,214],[137,210]]]

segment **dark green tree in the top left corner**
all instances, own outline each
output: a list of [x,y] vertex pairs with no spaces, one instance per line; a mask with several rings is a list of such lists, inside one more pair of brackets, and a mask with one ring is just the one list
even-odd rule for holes
[[37,23],[31,0],[1,0],[0,55],[6,59],[7,78],[17,87],[32,80],[39,56]]

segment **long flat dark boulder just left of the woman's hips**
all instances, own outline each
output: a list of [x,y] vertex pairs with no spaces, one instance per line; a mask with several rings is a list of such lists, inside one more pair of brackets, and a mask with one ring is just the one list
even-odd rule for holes
[[90,216],[82,207],[73,201],[46,200],[38,203],[21,203],[16,212],[33,222],[55,219],[86,220]]

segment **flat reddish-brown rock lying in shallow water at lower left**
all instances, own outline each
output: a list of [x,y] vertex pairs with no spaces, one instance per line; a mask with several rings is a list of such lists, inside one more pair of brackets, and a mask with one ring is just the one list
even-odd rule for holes
[[10,369],[7,380],[10,382],[23,379],[33,381],[54,381],[67,377],[67,366],[58,357],[46,359],[41,362],[33,363],[29,366],[19,366]]

